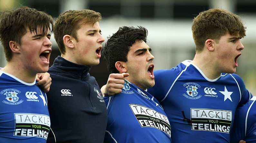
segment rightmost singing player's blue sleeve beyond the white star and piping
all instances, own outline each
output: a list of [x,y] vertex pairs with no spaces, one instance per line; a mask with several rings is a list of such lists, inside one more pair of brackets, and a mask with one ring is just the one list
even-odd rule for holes
[[241,92],[241,100],[238,104],[238,107],[246,104],[252,97],[251,93],[245,88],[245,84],[242,80],[241,77],[239,77],[236,74],[232,74],[232,76],[235,78],[235,80],[237,81],[238,87],[240,89]]

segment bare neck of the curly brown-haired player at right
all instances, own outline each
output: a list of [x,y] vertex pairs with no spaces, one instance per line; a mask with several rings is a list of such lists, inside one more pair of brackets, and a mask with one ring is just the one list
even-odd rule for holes
[[207,78],[216,79],[221,75],[221,72],[218,70],[218,65],[214,62],[214,58],[211,53],[196,53],[192,63],[200,68]]

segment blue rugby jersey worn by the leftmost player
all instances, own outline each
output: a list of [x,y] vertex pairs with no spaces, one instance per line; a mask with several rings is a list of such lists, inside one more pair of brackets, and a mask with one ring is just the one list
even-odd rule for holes
[[0,141],[45,143],[50,130],[46,94],[0,71]]

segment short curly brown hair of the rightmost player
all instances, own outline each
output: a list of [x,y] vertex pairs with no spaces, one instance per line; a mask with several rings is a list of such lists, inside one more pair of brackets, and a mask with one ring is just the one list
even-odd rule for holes
[[223,9],[210,9],[200,12],[193,20],[192,33],[196,52],[203,51],[205,41],[213,39],[218,42],[221,36],[229,32],[230,35],[245,36],[246,27],[240,16]]

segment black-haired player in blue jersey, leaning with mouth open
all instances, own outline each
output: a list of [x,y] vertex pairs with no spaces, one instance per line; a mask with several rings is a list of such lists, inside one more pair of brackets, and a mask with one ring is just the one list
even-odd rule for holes
[[[170,143],[169,120],[147,92],[155,85],[154,56],[146,44],[147,29],[120,27],[108,39],[103,55],[110,73],[129,73],[121,93],[106,97],[106,143]],[[127,75],[124,75],[124,77]]]

